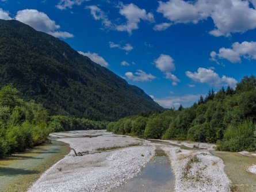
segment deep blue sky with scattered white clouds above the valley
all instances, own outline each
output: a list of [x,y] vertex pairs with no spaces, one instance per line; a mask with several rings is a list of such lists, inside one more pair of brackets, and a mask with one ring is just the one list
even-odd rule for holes
[[255,75],[255,0],[0,0],[24,22],[142,88],[164,107]]

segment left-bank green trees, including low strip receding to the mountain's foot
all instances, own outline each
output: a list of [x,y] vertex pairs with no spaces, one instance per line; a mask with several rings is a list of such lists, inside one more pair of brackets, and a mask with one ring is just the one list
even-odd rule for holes
[[106,129],[107,122],[50,117],[41,104],[25,102],[18,95],[18,90],[10,85],[0,90],[0,158],[45,143],[51,132]]

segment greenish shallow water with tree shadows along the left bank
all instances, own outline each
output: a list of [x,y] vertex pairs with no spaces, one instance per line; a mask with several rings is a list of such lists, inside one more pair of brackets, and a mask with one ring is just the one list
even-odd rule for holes
[[28,152],[0,159],[1,191],[26,191],[44,171],[69,151],[67,144],[52,140],[51,144],[40,145]]

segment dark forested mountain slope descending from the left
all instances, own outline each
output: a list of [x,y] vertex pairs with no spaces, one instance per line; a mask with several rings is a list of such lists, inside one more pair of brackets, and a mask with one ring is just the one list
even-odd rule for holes
[[163,110],[142,89],[64,41],[16,20],[0,20],[0,86],[9,83],[51,114],[116,120]]

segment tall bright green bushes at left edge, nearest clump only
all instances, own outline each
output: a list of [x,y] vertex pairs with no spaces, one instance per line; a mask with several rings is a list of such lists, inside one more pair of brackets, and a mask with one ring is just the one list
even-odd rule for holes
[[0,90],[0,157],[47,141],[48,112],[34,101],[24,102],[17,89]]

